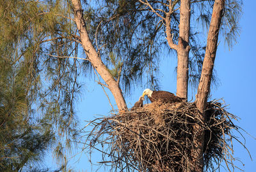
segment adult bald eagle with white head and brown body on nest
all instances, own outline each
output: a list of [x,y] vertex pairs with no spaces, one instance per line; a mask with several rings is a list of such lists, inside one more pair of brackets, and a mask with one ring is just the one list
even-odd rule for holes
[[162,101],[163,103],[174,103],[174,102],[182,102],[185,99],[175,96],[172,92],[168,91],[152,91],[150,89],[145,89],[143,91],[142,96],[145,95],[148,96],[148,99],[150,99],[151,102],[154,101]]

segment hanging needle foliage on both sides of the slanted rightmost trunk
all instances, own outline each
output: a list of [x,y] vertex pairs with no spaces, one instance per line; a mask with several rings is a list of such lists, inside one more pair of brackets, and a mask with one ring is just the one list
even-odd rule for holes
[[[200,80],[213,4],[213,0],[200,2],[191,1],[189,83],[192,88],[196,88]],[[240,0],[228,0],[225,2],[225,9],[220,29],[220,40],[224,40],[225,43],[227,43],[228,48],[232,48],[239,36],[239,19],[242,14],[242,6],[243,2]],[[198,28],[202,29],[202,31],[198,32]],[[212,75],[211,87],[218,86],[220,81],[218,80],[217,72],[214,70]]]

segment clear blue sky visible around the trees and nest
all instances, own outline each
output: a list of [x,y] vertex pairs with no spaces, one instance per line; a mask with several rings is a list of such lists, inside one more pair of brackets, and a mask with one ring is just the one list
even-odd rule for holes
[[[241,18],[241,35],[237,38],[237,44],[228,50],[227,47],[220,43],[216,55],[214,68],[217,70],[218,78],[221,85],[212,90],[212,99],[225,99],[226,104],[230,104],[228,111],[241,118],[239,123],[236,123],[252,136],[256,137],[256,115],[255,115],[255,96],[256,96],[256,58],[255,58],[255,40],[256,40],[256,15],[255,15],[256,1],[244,1],[243,17]],[[159,83],[162,90],[175,92],[175,72],[174,65],[175,59],[168,59],[163,62],[163,70],[160,74]],[[171,76],[171,77],[170,77]],[[92,120],[95,115],[108,115],[111,110],[108,99],[105,96],[102,88],[93,82],[84,85],[84,94],[81,102],[77,103],[77,117],[81,121]],[[95,79],[96,80],[96,79]],[[134,104],[141,96],[145,87],[136,87],[131,97],[126,97],[125,100],[129,107]],[[190,95],[195,97],[195,92]],[[111,94],[109,93],[111,97]],[[111,98],[113,99],[113,98]],[[112,101],[115,103],[115,101]],[[246,147],[250,150],[253,161],[251,161],[246,150],[234,143],[234,157],[239,158],[244,163],[241,167],[244,171],[255,171],[256,161],[256,140],[243,133],[246,138]],[[79,150],[78,150],[79,151]],[[88,162],[88,155],[81,155],[79,162],[71,162],[69,165],[75,171],[95,171],[97,167],[91,166]],[[93,154],[94,162],[100,160],[100,154]],[[48,159],[51,161],[51,159]],[[50,166],[54,166],[49,162]],[[106,171],[101,168],[99,171]],[[221,170],[223,171],[223,170]],[[236,171],[239,171],[236,169]]]

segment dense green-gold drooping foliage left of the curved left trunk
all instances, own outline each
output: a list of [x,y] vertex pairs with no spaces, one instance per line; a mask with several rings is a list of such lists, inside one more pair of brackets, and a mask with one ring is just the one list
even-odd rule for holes
[[[76,25],[67,1],[0,1],[1,169],[19,170],[77,136]],[[62,155],[62,156],[61,156]]]

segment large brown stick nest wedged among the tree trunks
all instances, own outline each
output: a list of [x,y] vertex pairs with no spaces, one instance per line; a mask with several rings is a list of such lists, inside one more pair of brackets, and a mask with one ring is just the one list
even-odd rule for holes
[[240,129],[232,120],[237,118],[217,101],[207,104],[205,122],[198,120],[196,113],[194,103],[146,104],[93,120],[85,144],[90,151],[100,150],[100,163],[114,171],[188,171],[193,166],[193,125],[199,124],[205,130],[205,171],[219,168],[221,161],[231,171],[232,140],[237,140],[231,131]]

